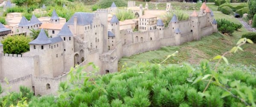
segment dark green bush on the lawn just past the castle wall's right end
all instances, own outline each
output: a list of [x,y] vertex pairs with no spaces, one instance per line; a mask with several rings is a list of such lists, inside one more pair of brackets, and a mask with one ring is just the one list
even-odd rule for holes
[[217,19],[216,21],[218,22],[218,31],[221,33],[228,33],[229,35],[242,27],[241,24],[236,24],[226,19]]

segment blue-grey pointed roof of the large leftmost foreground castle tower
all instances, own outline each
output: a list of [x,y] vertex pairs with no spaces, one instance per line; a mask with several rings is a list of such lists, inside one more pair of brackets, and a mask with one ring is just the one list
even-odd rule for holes
[[41,29],[38,37],[29,42],[29,44],[51,44],[52,41],[49,40],[49,38],[47,37],[46,33],[44,32],[44,29]]

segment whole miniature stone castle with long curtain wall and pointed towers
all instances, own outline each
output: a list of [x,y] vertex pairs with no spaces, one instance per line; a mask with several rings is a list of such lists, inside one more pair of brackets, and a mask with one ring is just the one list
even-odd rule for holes
[[[98,9],[95,13],[77,12],[56,37],[47,38],[41,29],[38,38],[29,43],[30,51],[23,55],[4,54],[3,44],[0,44],[0,82],[4,89],[12,86],[10,91],[18,91],[20,85],[25,85],[35,95],[55,93],[59,83],[66,80],[70,67],[93,62],[100,68],[98,74],[116,72],[118,60],[123,56],[177,46],[217,32],[217,22],[212,16],[210,9],[203,7],[199,15],[194,11],[187,20],[179,21],[173,15],[167,27],[162,20],[153,17],[152,23],[156,27],[152,30],[131,32],[119,30],[119,20],[115,15],[108,23],[107,9]],[[56,22],[57,18],[52,19]],[[27,23],[23,18],[20,25],[30,27],[31,24]],[[5,77],[9,84],[3,82]]]

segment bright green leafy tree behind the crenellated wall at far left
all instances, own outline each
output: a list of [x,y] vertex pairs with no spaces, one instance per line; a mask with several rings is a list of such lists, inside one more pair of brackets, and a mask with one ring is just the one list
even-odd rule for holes
[[4,53],[8,54],[22,54],[29,51],[29,42],[31,38],[26,36],[7,36],[3,39]]

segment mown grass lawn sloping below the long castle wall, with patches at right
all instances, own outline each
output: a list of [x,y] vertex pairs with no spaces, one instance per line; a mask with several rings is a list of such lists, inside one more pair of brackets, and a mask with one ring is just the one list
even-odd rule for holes
[[[214,13],[215,19],[225,18],[232,22],[239,23],[233,16],[222,13]],[[241,38],[243,33],[248,32],[244,27],[235,31],[232,36],[224,36],[220,33],[201,38],[200,41],[192,41],[175,47],[162,47],[156,51],[148,51],[130,57],[124,57],[119,60],[119,70],[123,65],[133,66],[140,62],[160,63],[168,55],[179,51],[177,56],[166,60],[166,64],[189,62],[192,64],[200,63],[200,60],[211,59],[216,55],[222,55],[236,46],[236,42]],[[234,55],[227,55],[231,64],[243,64],[247,66],[256,66],[256,44],[245,44],[242,46],[244,52],[237,52]]]

